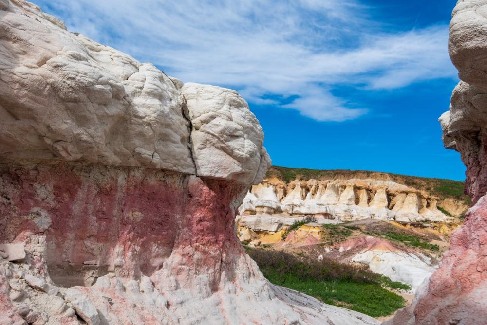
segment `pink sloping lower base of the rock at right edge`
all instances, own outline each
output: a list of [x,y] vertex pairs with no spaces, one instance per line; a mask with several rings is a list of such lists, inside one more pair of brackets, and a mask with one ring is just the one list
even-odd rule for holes
[[487,324],[487,198],[450,235],[450,250],[413,304],[388,325]]

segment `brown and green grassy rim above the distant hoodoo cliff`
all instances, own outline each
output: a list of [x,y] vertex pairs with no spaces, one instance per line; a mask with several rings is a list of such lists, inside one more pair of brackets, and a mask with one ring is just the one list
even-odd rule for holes
[[418,190],[424,190],[440,199],[457,199],[465,204],[471,204],[471,199],[464,194],[465,183],[463,181],[452,181],[438,178],[416,177],[392,173],[373,172],[367,170],[349,169],[307,169],[307,168],[288,168],[271,166],[267,171],[266,177],[277,177],[289,183],[293,180],[308,181],[317,180],[338,180],[338,179],[376,179],[383,181],[394,181]]

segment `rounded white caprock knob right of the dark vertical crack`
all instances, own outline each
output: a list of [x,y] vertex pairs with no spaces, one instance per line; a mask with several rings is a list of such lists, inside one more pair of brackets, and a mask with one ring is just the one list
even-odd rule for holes
[[186,83],[181,88],[191,120],[198,176],[258,183],[270,166],[264,134],[235,90]]

